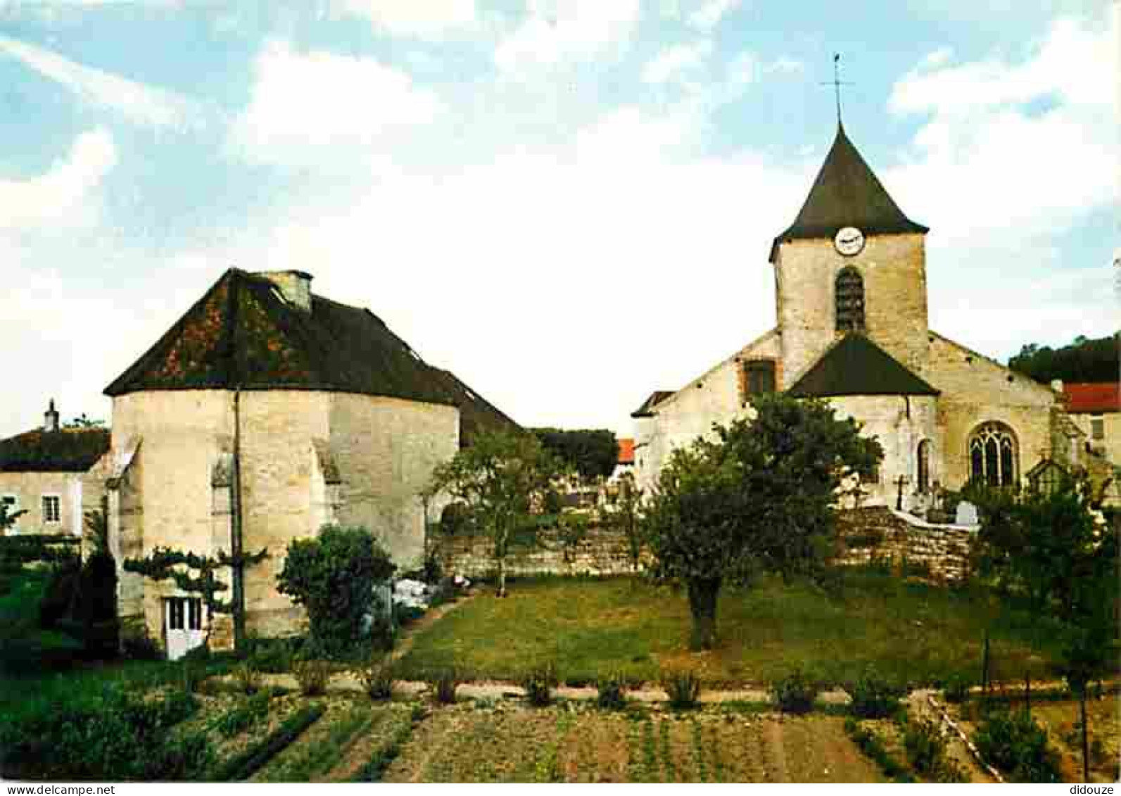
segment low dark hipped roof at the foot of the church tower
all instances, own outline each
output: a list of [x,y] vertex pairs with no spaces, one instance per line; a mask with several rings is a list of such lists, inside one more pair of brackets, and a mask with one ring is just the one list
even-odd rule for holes
[[891,354],[856,333],[828,348],[787,391],[797,398],[938,395]]

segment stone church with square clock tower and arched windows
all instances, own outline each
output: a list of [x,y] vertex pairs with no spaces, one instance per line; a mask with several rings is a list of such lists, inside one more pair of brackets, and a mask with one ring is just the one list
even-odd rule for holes
[[[1085,433],[1059,385],[1043,386],[928,324],[926,237],[839,121],[802,210],[775,238],[776,325],[631,415],[638,484],[670,452],[742,415],[751,396],[827,400],[879,439],[864,505],[921,512],[939,488],[1023,482],[1043,462],[1082,464]],[[1056,387],[1058,389],[1056,389]]]

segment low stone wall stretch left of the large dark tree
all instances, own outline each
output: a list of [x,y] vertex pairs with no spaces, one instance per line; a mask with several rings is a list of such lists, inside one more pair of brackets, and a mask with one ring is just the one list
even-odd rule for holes
[[[445,536],[436,543],[444,572],[481,577],[494,571],[491,540],[483,536]],[[643,552],[640,567],[649,556]],[[537,545],[511,545],[506,557],[509,575],[630,575],[634,573],[626,534],[592,526],[574,545],[556,529],[538,531]]]

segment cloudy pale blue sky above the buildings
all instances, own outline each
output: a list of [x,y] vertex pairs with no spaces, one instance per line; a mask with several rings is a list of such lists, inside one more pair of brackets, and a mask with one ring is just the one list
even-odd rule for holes
[[1109,0],[0,0],[0,436],[225,269],[295,268],[522,425],[631,431],[775,324],[836,128],[930,228],[930,326],[1118,328]]

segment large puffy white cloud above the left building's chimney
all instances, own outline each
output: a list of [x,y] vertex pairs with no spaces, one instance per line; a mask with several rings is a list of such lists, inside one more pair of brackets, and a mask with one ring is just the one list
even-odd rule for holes
[[265,163],[377,163],[442,111],[433,92],[374,58],[297,53],[274,41],[257,59],[252,95],[233,124],[231,146]]

